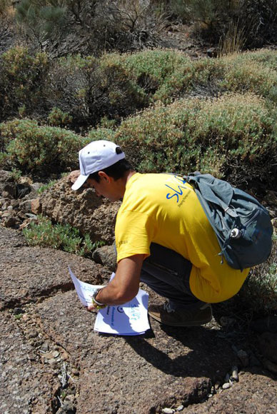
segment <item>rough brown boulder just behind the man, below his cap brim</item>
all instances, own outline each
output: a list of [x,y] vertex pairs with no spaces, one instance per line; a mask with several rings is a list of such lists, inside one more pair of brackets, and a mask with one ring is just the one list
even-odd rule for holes
[[114,225],[120,203],[96,196],[93,189],[71,190],[69,177],[61,178],[54,186],[44,191],[39,198],[39,211],[57,223],[69,223],[89,233],[92,241],[114,241]]

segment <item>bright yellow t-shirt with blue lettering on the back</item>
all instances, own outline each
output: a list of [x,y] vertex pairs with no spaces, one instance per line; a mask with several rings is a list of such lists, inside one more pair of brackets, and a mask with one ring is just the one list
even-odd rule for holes
[[221,264],[221,248],[196,193],[179,176],[135,173],[116,218],[117,260],[150,254],[150,244],[171,248],[192,263],[190,287],[201,301],[226,301],[249,269]]

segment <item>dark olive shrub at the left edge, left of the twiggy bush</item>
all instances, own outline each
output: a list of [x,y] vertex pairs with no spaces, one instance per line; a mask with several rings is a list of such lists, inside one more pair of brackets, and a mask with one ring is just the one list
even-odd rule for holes
[[0,57],[0,95],[4,96],[0,118],[14,116],[24,106],[29,114],[44,107],[43,87],[48,58],[44,53],[31,56],[16,46]]

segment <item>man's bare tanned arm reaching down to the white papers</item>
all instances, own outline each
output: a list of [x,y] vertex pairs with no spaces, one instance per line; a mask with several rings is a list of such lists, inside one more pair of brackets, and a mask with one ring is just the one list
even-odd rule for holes
[[[122,305],[131,301],[139,291],[139,279],[144,256],[143,254],[136,254],[122,259],[117,266],[116,276],[106,288],[101,289],[96,296],[96,301],[105,305]],[[90,305],[89,310],[93,309],[94,306]]]

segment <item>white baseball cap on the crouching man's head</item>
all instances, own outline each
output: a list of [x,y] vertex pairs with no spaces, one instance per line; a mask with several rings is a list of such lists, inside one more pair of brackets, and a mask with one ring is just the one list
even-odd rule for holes
[[111,141],[93,141],[79,151],[79,164],[81,174],[76,179],[72,190],[79,190],[89,174],[104,170],[117,161],[125,158],[120,146]]

